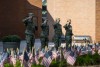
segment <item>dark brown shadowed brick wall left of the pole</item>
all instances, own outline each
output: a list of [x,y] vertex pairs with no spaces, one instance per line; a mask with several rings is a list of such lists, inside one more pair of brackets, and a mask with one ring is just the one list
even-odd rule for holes
[[22,19],[29,12],[35,14],[38,23],[36,37],[39,37],[42,22],[41,0],[0,0],[0,39],[5,35],[17,34],[25,38],[25,26]]

